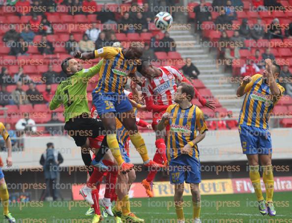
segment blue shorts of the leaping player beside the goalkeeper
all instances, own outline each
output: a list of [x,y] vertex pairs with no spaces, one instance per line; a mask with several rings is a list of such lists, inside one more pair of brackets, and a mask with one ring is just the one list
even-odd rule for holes
[[122,113],[133,109],[131,102],[125,94],[95,93],[95,90],[93,90],[92,102],[98,115],[109,112]]

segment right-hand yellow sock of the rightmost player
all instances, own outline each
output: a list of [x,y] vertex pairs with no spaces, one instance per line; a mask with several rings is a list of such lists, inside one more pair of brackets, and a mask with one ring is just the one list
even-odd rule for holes
[[274,194],[274,175],[273,175],[273,166],[263,166],[263,183],[265,186],[266,192],[266,202],[273,201]]

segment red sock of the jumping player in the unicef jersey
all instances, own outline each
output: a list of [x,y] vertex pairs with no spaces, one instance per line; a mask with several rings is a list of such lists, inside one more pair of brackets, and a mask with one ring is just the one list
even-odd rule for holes
[[[157,139],[155,141],[155,145],[157,149],[153,157],[153,161],[162,164],[164,161],[167,160],[166,154],[165,154],[166,146],[165,146],[164,139]],[[147,175],[146,181],[152,182],[156,174],[157,174],[157,170],[150,170],[150,172]]]

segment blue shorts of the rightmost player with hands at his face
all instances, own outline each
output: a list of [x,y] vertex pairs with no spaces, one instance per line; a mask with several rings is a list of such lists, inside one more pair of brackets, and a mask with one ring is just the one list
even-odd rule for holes
[[239,137],[243,154],[271,154],[272,141],[268,129],[239,125]]

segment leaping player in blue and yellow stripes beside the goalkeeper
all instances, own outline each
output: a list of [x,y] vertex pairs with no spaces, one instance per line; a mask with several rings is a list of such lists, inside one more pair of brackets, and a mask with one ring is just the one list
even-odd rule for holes
[[103,58],[104,63],[99,72],[99,80],[92,92],[92,101],[107,131],[107,143],[117,164],[122,171],[129,171],[133,164],[126,163],[120,154],[116,133],[116,115],[122,125],[129,131],[129,137],[140,153],[146,166],[159,167],[148,157],[145,141],[138,132],[133,107],[123,90],[127,77],[136,71],[135,61],[143,54],[143,48],[103,47],[90,53],[75,52],[75,57],[83,60]]

